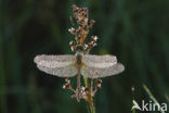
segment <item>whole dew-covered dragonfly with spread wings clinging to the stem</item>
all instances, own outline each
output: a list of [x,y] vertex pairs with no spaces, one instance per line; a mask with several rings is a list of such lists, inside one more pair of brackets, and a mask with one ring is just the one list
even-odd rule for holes
[[82,49],[78,49],[75,55],[41,54],[37,55],[34,61],[37,67],[47,74],[58,77],[74,77],[77,75],[78,95],[80,93],[81,75],[94,79],[116,75],[125,70],[125,66],[117,62],[115,55],[84,54]]

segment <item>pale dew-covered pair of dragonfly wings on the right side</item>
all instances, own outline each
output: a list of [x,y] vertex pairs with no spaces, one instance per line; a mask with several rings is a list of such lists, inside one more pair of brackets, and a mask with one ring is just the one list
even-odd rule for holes
[[89,78],[116,75],[125,70],[122,64],[117,63],[117,59],[114,55],[84,55],[83,63],[81,74]]

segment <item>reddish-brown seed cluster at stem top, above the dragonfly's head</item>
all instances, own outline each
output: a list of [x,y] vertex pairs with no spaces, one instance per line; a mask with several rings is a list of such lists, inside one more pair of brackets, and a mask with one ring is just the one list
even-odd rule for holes
[[[74,17],[76,18],[79,27],[76,29],[74,27],[69,28],[68,32],[70,32],[73,35],[75,35],[76,43],[72,43],[72,50],[75,51],[75,45],[83,45],[83,41],[89,33],[89,30],[92,28],[93,24],[95,23],[94,20],[91,20],[90,23],[88,22],[88,9],[87,8],[78,8],[76,5],[73,5],[74,11]],[[92,47],[96,46],[96,39],[98,37],[92,36],[91,41],[86,45],[86,49],[91,49]]]

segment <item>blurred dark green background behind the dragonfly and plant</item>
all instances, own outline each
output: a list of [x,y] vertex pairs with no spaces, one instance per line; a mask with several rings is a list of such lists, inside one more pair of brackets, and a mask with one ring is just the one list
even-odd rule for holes
[[72,53],[74,3],[87,7],[96,22],[90,35],[99,36],[99,45],[91,53],[115,54],[126,66],[122,74],[103,78],[94,98],[96,113],[130,113],[132,86],[139,103],[150,101],[142,84],[159,103],[167,102],[169,0],[1,0],[0,113],[88,112],[84,101],[78,103],[62,89],[63,78],[40,72],[34,63],[37,54]]

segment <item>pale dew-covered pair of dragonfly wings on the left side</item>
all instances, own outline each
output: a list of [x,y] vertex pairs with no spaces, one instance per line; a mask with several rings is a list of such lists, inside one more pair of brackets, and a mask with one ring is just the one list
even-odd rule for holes
[[73,77],[77,74],[74,55],[37,55],[34,61],[40,71],[60,77]]

